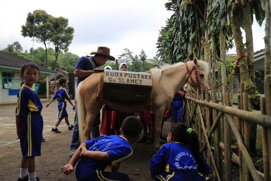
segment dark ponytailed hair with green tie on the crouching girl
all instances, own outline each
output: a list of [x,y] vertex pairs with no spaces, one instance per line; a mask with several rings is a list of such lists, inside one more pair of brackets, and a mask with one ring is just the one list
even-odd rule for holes
[[183,123],[176,123],[170,129],[170,132],[177,142],[188,146],[196,160],[199,160],[200,158],[203,159],[203,155],[200,152],[198,135],[192,128],[189,128],[189,126]]

